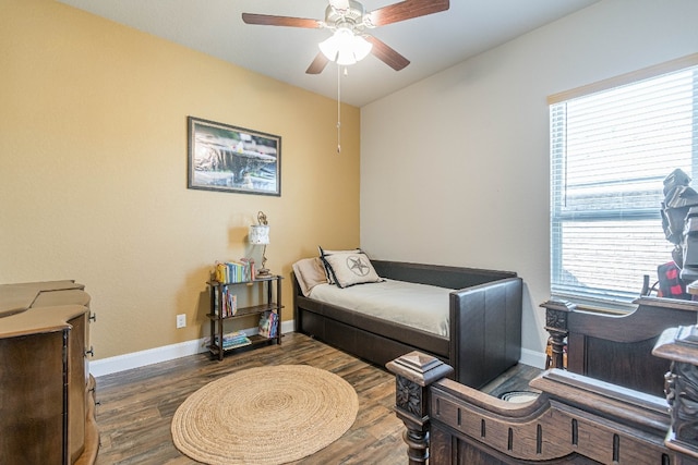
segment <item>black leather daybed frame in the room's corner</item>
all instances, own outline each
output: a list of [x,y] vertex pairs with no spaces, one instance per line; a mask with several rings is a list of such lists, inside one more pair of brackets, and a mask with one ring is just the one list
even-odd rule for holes
[[[316,266],[316,260],[318,258],[299,260],[293,266],[297,332],[380,366],[418,350],[453,366],[453,378],[473,388],[493,380],[520,358],[522,282],[515,272],[371,260],[382,279],[435,286],[436,291],[441,289],[445,293],[442,304],[445,328],[437,334],[400,322],[399,308],[387,315],[372,316],[347,308],[345,304],[314,298],[315,289],[309,291],[303,277],[299,277],[302,268],[299,264],[310,261]],[[371,290],[376,285],[358,284],[339,292]],[[316,287],[323,286],[336,289],[333,284]],[[375,299],[387,294],[373,290],[380,293]],[[434,318],[426,316],[422,320]]]

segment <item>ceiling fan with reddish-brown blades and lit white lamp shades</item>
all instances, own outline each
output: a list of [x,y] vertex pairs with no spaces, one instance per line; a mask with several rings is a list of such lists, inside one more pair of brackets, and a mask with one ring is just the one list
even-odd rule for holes
[[321,51],[305,70],[308,74],[322,73],[329,61],[353,64],[369,53],[395,71],[400,71],[410,64],[409,60],[382,40],[364,34],[364,30],[446,11],[448,3],[449,0],[406,0],[366,13],[358,1],[329,0],[324,21],[255,13],[242,13],[242,21],[265,26],[332,30],[333,36],[320,44]]

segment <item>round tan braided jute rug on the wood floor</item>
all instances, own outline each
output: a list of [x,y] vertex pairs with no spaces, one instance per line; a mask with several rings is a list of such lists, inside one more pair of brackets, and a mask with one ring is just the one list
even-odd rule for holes
[[351,384],[306,365],[250,368],[213,381],[174,412],[177,449],[206,464],[282,464],[339,439],[357,418]]

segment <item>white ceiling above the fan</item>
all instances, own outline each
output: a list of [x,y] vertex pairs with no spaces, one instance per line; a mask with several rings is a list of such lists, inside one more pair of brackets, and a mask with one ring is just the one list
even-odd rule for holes
[[[241,13],[323,20],[327,0],[59,0],[278,81],[337,98],[337,69],[305,74],[326,29],[248,25]],[[452,0],[448,11],[369,30],[410,60],[370,54],[341,77],[341,101],[362,107],[599,0]],[[396,1],[364,0],[366,12]]]

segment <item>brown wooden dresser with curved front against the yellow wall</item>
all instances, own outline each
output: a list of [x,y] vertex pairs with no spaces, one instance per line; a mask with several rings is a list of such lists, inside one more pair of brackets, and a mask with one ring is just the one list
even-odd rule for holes
[[0,464],[93,464],[89,294],[73,281],[0,285]]

